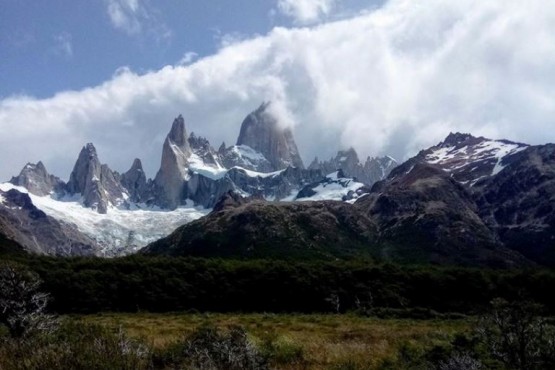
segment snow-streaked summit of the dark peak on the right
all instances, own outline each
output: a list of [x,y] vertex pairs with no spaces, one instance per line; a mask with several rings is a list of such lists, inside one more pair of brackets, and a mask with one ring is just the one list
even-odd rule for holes
[[505,167],[508,157],[526,148],[526,144],[508,140],[455,133],[420,152],[417,158],[441,167],[463,184],[474,186],[482,178],[497,175]]

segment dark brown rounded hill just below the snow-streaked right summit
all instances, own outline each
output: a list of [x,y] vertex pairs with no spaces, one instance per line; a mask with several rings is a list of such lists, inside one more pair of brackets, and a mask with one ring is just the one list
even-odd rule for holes
[[426,164],[415,164],[403,175],[399,171],[355,203],[377,223],[384,257],[461,265],[526,263],[502,247],[478,216],[470,193],[448,174]]

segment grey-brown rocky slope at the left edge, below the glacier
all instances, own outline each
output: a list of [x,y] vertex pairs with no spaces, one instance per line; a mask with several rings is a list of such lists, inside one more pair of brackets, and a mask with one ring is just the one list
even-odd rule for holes
[[96,255],[100,247],[74,226],[33,205],[28,194],[0,190],[0,235],[28,252],[56,256]]

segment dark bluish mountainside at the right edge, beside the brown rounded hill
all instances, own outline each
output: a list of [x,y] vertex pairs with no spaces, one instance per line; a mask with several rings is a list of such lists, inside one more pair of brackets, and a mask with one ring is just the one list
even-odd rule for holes
[[555,145],[529,147],[478,182],[479,214],[509,248],[555,266]]

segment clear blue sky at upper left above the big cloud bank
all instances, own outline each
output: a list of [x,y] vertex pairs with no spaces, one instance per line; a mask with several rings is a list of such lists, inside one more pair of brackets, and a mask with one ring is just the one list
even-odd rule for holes
[[[322,18],[376,4],[336,3]],[[0,17],[0,97],[41,98],[98,85],[122,66],[157,70],[187,53],[214,54],[230,38],[299,24],[271,0],[3,0]]]

